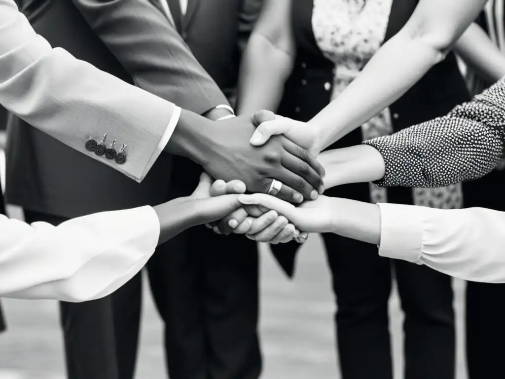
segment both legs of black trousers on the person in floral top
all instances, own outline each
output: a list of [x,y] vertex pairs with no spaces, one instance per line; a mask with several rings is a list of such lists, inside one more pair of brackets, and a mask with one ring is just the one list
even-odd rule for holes
[[[330,196],[368,198],[367,185],[328,191]],[[392,203],[411,202],[393,191]],[[405,378],[453,379],[456,329],[451,278],[426,266],[390,260],[371,244],[323,234],[336,296],[338,351],[344,379],[391,379],[388,300],[392,273],[405,313]]]

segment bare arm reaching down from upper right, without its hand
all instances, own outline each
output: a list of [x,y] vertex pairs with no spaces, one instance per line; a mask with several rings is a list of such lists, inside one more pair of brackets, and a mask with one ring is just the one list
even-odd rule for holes
[[407,24],[382,46],[359,77],[309,122],[319,132],[319,149],[401,97],[444,58],[485,2],[421,0]]

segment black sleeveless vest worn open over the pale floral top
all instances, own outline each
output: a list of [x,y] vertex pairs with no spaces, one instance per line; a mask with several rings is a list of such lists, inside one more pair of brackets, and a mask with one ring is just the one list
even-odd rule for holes
[[[331,98],[327,84],[333,85],[332,62],[319,50],[312,31],[296,25],[310,25],[313,2],[293,0],[293,25],[297,41],[297,57],[293,72],[286,82],[284,97],[278,113],[300,121],[309,121]],[[409,20],[418,0],[393,0],[385,41],[395,35]],[[306,85],[300,85],[301,81]],[[389,107],[393,115],[393,130],[415,125],[448,113],[470,97],[458,69],[456,57],[449,53],[443,62],[431,68],[426,75],[412,86],[400,99]],[[361,131],[355,130],[341,138],[330,148],[352,146],[361,143]],[[349,184],[331,188],[331,196],[368,201],[369,188],[366,183]],[[388,189],[394,203],[412,202],[410,188]],[[289,243],[272,246],[272,251],[289,276],[293,275],[297,245]]]

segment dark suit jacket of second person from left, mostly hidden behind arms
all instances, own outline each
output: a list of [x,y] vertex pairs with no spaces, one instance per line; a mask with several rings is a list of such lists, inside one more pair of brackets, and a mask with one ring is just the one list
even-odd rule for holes
[[[179,0],[174,0],[179,2]],[[156,0],[151,0],[158,4]],[[177,18],[172,0],[172,17]],[[178,4],[178,3],[176,3]],[[241,52],[261,12],[262,0],[188,0],[179,34],[191,52],[233,104]],[[190,195],[201,168],[174,157],[170,198]]]

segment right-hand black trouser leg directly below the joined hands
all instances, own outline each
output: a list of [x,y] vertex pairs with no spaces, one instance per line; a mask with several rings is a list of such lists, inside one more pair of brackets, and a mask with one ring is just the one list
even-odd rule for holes
[[259,255],[243,235],[191,230],[192,250],[204,262],[203,304],[209,379],[258,379]]

